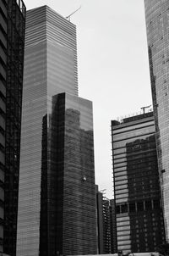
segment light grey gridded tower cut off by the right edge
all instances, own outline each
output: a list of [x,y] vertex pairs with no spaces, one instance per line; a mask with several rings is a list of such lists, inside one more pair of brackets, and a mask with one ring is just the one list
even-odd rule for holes
[[169,242],[169,3],[144,0],[166,241]]

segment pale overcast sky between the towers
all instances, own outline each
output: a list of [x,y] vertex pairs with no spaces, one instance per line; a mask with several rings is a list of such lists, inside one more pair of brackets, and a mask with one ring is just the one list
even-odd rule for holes
[[24,0],[77,26],[79,97],[93,102],[95,183],[113,198],[111,120],[151,104],[144,0]]

